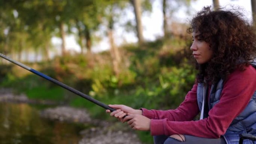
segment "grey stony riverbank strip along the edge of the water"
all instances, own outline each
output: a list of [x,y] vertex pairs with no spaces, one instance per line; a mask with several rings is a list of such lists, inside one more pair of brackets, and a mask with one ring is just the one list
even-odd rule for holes
[[[0,89],[0,102],[54,104],[50,101],[31,100],[25,95],[15,95],[11,89]],[[88,129],[79,132],[82,137],[79,144],[141,144],[135,132],[131,131],[128,125],[92,119],[84,108],[57,105],[54,108],[43,109],[40,111],[40,116],[49,120],[89,125]]]

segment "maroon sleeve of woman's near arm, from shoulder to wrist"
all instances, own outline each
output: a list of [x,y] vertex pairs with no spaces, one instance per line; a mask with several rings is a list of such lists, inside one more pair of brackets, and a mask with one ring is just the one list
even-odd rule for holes
[[235,71],[224,83],[219,103],[209,111],[209,116],[198,121],[177,122],[168,119],[150,122],[152,135],[186,134],[196,137],[219,138],[249,103],[256,91],[256,70]]

